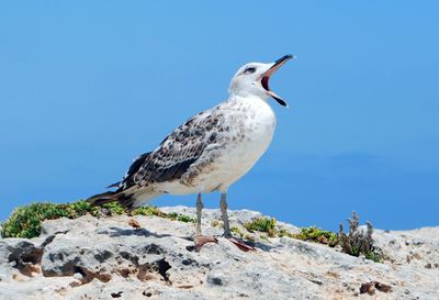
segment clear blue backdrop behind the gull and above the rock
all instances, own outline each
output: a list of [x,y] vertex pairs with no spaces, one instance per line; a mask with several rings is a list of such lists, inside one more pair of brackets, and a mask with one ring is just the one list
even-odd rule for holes
[[376,227],[439,225],[438,13],[403,0],[2,2],[0,220],[103,191],[226,99],[238,67],[294,54],[270,82],[290,109],[271,102],[274,141],[229,207],[331,230],[352,210]]

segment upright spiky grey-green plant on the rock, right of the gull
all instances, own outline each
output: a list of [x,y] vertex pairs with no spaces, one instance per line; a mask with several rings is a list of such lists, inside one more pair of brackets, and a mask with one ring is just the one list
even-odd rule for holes
[[345,233],[342,224],[338,233],[338,241],[341,251],[352,256],[364,255],[365,258],[380,263],[383,258],[381,251],[373,245],[373,227],[370,222],[365,222],[367,230],[359,229],[359,216],[352,212],[352,219],[348,219],[349,232]]

